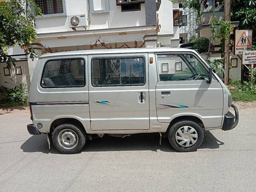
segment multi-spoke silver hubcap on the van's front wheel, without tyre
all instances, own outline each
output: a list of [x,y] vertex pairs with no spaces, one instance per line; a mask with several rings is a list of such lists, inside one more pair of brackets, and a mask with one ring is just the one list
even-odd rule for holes
[[198,138],[196,130],[190,126],[178,128],[175,133],[176,142],[182,147],[193,146]]

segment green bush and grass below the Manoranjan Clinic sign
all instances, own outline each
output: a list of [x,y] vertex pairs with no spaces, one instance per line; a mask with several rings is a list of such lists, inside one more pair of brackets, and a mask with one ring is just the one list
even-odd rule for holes
[[230,81],[229,85],[237,89],[231,90],[234,101],[256,101],[256,85],[250,87],[248,82],[242,84],[240,80]]

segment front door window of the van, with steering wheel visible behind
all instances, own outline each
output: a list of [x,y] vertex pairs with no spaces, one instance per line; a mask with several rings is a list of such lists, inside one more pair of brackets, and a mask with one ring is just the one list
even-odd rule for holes
[[160,81],[203,80],[206,68],[192,54],[158,54]]

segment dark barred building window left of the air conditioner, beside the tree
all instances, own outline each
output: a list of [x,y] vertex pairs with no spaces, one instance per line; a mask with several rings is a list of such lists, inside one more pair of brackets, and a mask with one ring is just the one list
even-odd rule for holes
[[63,13],[62,0],[36,0],[36,4],[41,8],[44,15]]

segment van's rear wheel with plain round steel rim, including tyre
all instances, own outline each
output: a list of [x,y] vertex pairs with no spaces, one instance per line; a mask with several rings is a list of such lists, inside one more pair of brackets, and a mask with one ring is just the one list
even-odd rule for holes
[[73,124],[62,124],[52,133],[55,148],[64,154],[74,154],[82,150],[85,144],[85,131]]

